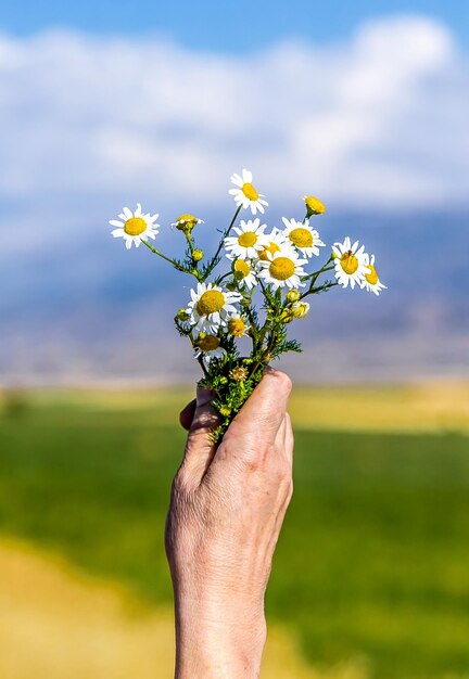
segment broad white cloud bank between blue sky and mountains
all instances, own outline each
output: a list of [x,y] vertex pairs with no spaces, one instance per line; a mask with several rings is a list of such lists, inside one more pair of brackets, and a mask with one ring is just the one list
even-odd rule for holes
[[2,37],[0,197],[224,205],[248,166],[279,198],[464,202],[468,91],[466,55],[419,16],[240,57],[156,37]]

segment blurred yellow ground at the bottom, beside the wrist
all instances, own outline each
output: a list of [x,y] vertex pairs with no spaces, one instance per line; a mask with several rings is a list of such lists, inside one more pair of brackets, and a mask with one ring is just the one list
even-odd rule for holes
[[[173,617],[117,587],[76,574],[29,547],[0,540],[1,679],[173,677]],[[263,679],[365,679],[359,668],[317,674],[271,630]]]

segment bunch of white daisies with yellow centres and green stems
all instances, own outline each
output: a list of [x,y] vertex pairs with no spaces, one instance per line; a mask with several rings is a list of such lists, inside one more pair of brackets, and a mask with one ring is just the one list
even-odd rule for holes
[[[301,351],[288,336],[290,323],[309,311],[306,300],[334,286],[367,290],[379,295],[385,289],[375,268],[375,256],[358,241],[334,243],[326,249],[312,219],[326,212],[314,196],[303,198],[306,214],[302,221],[282,218],[283,228],[268,229],[257,213],[268,206],[253,184],[252,172],[233,175],[229,194],[236,212],[224,231],[218,231],[215,252],[206,256],[197,246],[194,230],[201,223],[194,215],[180,215],[172,225],[185,238],[181,258],[174,258],[152,245],[160,225],[159,215],[131,212],[124,207],[118,220],[111,220],[112,235],[122,238],[127,249],[141,243],[178,271],[194,279],[190,299],[175,316],[176,329],[191,344],[203,372],[200,384],[212,390],[213,405],[220,415],[213,432],[219,440],[229,423],[261,381],[266,366],[287,351]],[[250,209],[253,219],[239,219]],[[320,260],[321,254],[324,264]],[[226,265],[219,270],[221,261]],[[313,269],[313,270],[310,270]],[[333,271],[333,280],[327,274]],[[240,341],[248,337],[251,348],[241,354]],[[246,351],[244,353],[246,354]]]

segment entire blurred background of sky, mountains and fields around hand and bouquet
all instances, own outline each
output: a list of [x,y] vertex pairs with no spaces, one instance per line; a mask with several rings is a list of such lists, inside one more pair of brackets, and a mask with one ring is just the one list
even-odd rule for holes
[[[264,676],[469,677],[469,8],[49,0],[0,16],[0,676],[170,676],[162,531],[189,281],[110,236],[266,220],[377,255],[292,328],[295,497]],[[156,662],[155,662],[156,657]]]

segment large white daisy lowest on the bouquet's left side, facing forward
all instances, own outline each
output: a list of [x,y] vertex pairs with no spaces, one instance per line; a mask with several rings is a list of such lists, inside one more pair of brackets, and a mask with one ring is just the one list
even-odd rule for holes
[[191,290],[191,298],[186,309],[190,322],[200,332],[214,333],[237,313],[233,305],[241,299],[241,295],[223,290],[213,283],[198,283],[197,291]]

